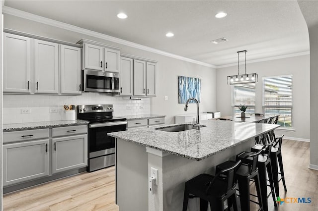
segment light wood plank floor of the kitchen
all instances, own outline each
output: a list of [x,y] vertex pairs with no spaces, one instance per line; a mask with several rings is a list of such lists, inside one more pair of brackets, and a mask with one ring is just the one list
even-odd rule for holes
[[[310,170],[309,143],[284,140],[282,155],[287,192],[280,182],[280,197],[310,197],[310,204],[282,204],[269,211],[318,211],[318,171]],[[4,211],[118,211],[115,205],[115,167],[82,173],[3,197]],[[181,210],[181,208],[180,208]],[[251,203],[251,210],[257,210]]]

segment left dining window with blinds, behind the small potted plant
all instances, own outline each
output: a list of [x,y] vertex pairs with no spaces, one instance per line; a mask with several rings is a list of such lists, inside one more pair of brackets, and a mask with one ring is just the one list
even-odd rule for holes
[[255,84],[235,84],[232,86],[232,110],[234,114],[240,113],[238,106],[247,106],[246,113],[254,113]]

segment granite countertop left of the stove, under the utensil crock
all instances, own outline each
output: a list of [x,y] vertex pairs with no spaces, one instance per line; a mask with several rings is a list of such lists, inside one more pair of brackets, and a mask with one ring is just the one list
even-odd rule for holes
[[14,124],[3,124],[3,132],[16,131],[16,130],[33,130],[42,129],[49,127],[62,127],[62,126],[74,126],[74,125],[85,125],[89,121],[74,120],[74,121],[45,121],[45,122],[26,122],[26,123],[14,123]]

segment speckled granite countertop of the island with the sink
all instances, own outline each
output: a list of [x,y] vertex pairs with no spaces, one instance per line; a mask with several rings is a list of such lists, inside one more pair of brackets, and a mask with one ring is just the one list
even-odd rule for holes
[[[201,121],[201,125],[206,125],[206,127],[201,127],[200,130],[192,129],[180,132],[141,128],[108,133],[108,135],[199,161],[280,126],[277,124],[218,121],[212,119]],[[163,127],[169,126],[171,125]]]

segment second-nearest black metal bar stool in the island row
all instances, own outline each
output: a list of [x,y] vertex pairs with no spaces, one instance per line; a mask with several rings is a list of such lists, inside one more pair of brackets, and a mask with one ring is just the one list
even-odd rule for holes
[[[249,206],[249,182],[251,179],[254,179],[258,203],[254,202],[259,205],[259,210],[263,209],[262,203],[262,196],[260,191],[260,182],[259,182],[259,175],[258,170],[256,168],[258,155],[263,151],[263,149],[259,150],[257,153],[251,153],[246,155],[245,158],[242,160],[242,164],[239,166],[237,170],[237,179],[239,183],[239,201],[240,207],[242,211],[250,211]],[[216,172],[221,171],[222,169],[226,169],[229,166],[232,166],[235,161],[229,160],[224,163],[221,163],[217,166]]]

